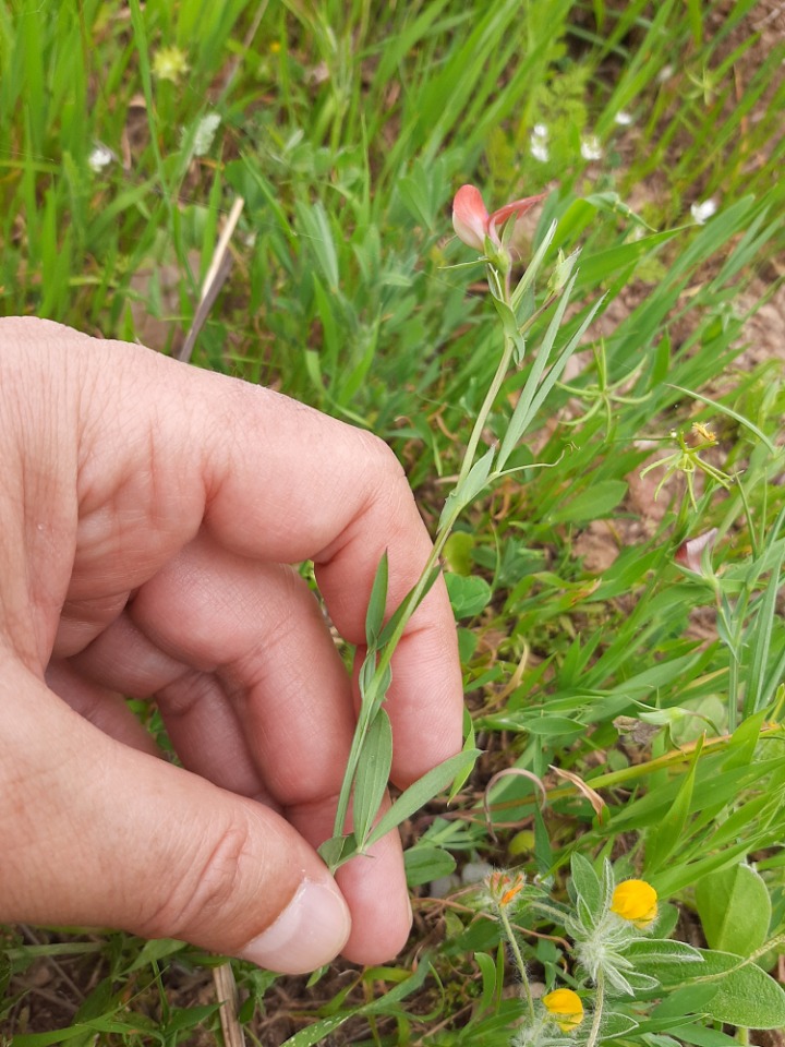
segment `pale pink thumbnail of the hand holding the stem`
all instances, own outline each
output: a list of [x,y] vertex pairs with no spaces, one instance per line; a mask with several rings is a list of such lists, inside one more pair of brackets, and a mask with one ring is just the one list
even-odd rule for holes
[[275,923],[240,955],[279,974],[306,974],[334,960],[350,930],[349,908],[338,888],[303,880]]

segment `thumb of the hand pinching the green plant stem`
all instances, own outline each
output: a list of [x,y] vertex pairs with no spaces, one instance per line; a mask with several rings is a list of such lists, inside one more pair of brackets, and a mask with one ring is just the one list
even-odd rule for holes
[[109,738],[17,662],[3,670],[0,922],[180,938],[286,974],[340,952],[347,904],[280,816]]

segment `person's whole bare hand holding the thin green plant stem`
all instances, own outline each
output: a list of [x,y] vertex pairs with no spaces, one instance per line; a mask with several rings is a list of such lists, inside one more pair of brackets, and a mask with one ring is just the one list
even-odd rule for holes
[[[120,927],[283,973],[378,963],[410,928],[388,834],[330,877],[362,657],[431,544],[376,437],[287,397],[0,320],[0,920]],[[461,745],[442,581],[392,662],[392,780]],[[183,767],[121,696],[154,698]]]

